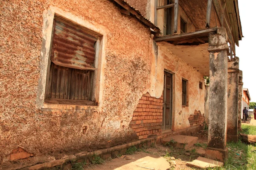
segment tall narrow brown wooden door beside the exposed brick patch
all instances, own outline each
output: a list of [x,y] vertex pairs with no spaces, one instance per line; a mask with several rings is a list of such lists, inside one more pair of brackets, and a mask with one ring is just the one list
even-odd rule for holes
[[163,81],[163,130],[172,129],[172,74],[164,71]]

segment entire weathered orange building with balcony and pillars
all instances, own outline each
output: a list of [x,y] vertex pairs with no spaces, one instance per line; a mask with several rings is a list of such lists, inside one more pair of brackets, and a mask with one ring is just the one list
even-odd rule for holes
[[[239,84],[239,68],[227,64],[242,38],[237,0],[0,8],[0,169],[51,167],[99,149],[115,156],[116,145],[197,132],[206,117],[207,154],[226,157],[227,97],[239,95],[228,86]],[[232,115],[238,122],[238,109]]]

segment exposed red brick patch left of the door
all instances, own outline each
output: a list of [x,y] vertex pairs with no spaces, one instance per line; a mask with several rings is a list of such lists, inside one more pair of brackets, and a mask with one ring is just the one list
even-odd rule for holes
[[130,127],[137,133],[139,139],[149,135],[159,135],[162,132],[163,96],[159,99],[144,94],[134,110]]

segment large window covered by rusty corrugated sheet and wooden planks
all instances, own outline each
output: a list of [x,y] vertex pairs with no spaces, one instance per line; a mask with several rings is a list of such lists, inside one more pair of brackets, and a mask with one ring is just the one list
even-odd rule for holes
[[45,102],[95,105],[97,40],[98,36],[90,30],[54,18]]

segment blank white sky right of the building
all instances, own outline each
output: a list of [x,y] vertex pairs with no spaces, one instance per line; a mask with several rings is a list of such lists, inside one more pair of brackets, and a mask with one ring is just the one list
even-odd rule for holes
[[244,88],[248,88],[251,101],[256,102],[256,0],[238,0],[243,38],[236,46],[239,69],[243,71]]

